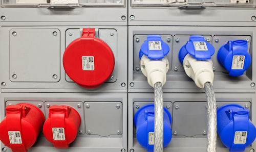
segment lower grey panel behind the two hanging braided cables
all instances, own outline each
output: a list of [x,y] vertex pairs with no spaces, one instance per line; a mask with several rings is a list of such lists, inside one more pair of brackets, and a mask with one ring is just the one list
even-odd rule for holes
[[[246,103],[250,103],[249,106],[250,110],[250,119],[252,123],[256,124],[256,105],[254,104],[256,101],[256,94],[255,93],[216,93],[216,100],[217,105],[220,107],[224,104],[233,103],[245,106]],[[186,102],[190,105],[193,105],[196,102],[204,103],[206,102],[205,93],[164,93],[163,94],[164,101],[169,102]],[[135,102],[149,102],[154,101],[154,94],[153,93],[129,93],[128,96],[128,149],[134,149],[134,151],[145,152],[146,149],[142,147],[134,135],[134,123],[133,123],[133,110],[134,110],[134,103]],[[175,104],[174,104],[175,105]],[[205,107],[202,107],[205,109]],[[175,111],[175,106],[173,106]],[[191,109],[192,110],[192,109]],[[185,113],[189,114],[189,113]],[[185,115],[184,114],[184,115]],[[174,128],[174,118],[173,116],[173,128]],[[178,115],[178,119],[182,121],[182,116]],[[186,121],[184,121],[184,124]],[[185,124],[188,125],[188,124]],[[174,129],[173,129],[174,131]],[[170,143],[164,148],[164,152],[205,152],[206,151],[206,136],[205,135],[196,135],[194,137],[186,137],[183,135],[173,135],[172,140]],[[247,147],[245,151],[249,151],[251,148],[256,149],[256,141],[252,143],[251,146]],[[220,138],[217,141],[217,151],[218,152],[228,152],[229,149],[226,148]]]

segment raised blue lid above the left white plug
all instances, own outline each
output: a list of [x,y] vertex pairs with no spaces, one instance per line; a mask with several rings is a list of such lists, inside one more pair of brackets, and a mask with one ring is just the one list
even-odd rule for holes
[[147,39],[140,47],[140,59],[146,55],[148,59],[163,59],[169,53],[169,46],[165,43],[160,35],[148,35]]

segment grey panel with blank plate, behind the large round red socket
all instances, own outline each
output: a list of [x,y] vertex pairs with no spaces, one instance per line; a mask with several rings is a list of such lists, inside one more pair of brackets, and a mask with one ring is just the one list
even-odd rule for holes
[[[99,29],[115,55],[113,79],[98,88],[66,80],[63,53],[80,28]],[[70,29],[76,31],[74,37],[66,34]],[[1,27],[0,33],[2,92],[127,92],[127,27]]]

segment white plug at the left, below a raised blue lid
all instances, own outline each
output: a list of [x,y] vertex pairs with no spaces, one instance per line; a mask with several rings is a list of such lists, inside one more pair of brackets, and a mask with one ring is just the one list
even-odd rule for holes
[[166,83],[166,73],[169,70],[169,62],[166,56],[163,59],[151,60],[143,55],[140,59],[140,67],[150,86],[154,87],[157,82],[161,82],[162,85]]

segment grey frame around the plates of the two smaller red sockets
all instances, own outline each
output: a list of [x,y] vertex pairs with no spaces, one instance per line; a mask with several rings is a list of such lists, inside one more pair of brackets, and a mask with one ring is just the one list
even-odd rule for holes
[[[122,134],[110,135],[101,137],[99,135],[82,134],[77,135],[75,141],[69,145],[68,149],[58,149],[53,147],[53,144],[46,140],[44,135],[40,135],[36,143],[29,151],[86,151],[86,152],[120,152],[121,149],[127,150],[127,94],[126,93],[0,93],[0,112],[1,121],[5,117],[6,101],[42,101],[46,103],[60,102],[68,103],[69,105],[76,102],[105,102],[105,103],[121,103],[122,104]],[[75,101],[75,102],[72,102]],[[76,105],[74,105],[76,106]],[[81,108],[82,109],[82,108]],[[111,113],[112,111],[110,111]],[[1,143],[1,147],[6,147]],[[11,151],[6,147],[7,151]]]

